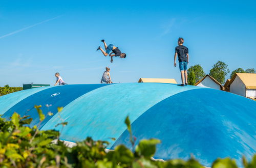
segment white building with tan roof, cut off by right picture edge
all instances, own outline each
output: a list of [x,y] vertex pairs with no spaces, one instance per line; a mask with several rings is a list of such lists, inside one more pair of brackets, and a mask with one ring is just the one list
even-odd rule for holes
[[256,73],[236,73],[232,76],[227,90],[248,98],[256,98]]

